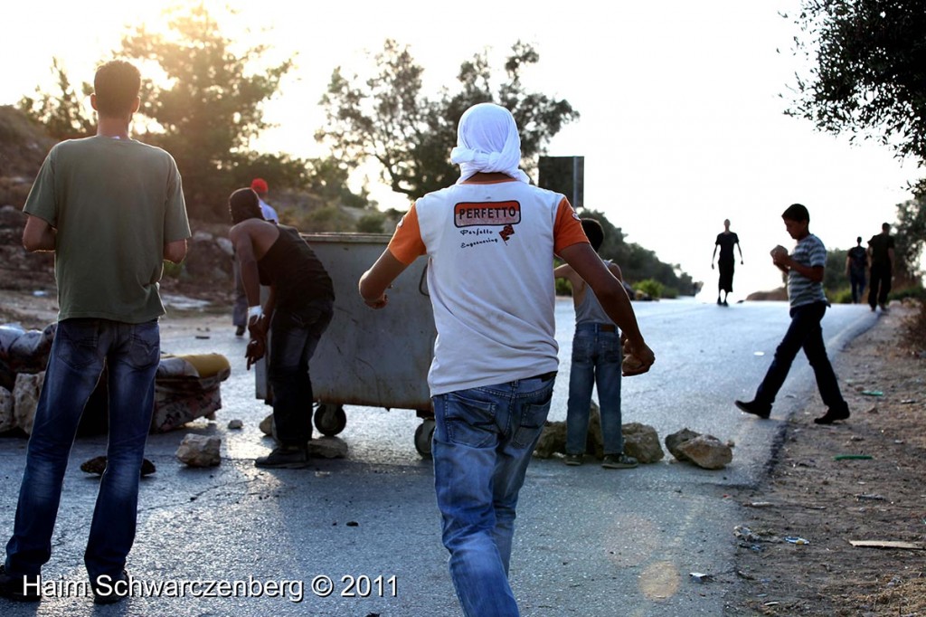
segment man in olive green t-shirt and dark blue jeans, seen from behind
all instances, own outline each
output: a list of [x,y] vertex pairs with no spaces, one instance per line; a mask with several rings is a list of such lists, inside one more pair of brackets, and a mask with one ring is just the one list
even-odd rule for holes
[[22,244],[54,251],[58,323],[35,412],[0,596],[41,599],[61,485],[81,412],[106,367],[109,441],[84,563],[96,602],[129,594],[138,484],[160,358],[157,282],[186,256],[190,225],[173,158],[129,136],[141,75],[114,60],[96,71],[96,135],[55,145],[24,209]]

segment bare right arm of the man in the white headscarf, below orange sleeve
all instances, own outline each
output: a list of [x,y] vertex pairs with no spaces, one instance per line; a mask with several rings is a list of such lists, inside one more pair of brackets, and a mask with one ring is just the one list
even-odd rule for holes
[[605,309],[607,316],[617,323],[620,330],[627,336],[632,355],[643,362],[641,368],[633,371],[632,374],[649,371],[656,357],[653,351],[646,346],[643,334],[640,334],[631,300],[627,297],[623,285],[607,270],[604,262],[590,245],[579,243],[567,246],[560,251],[560,257],[566,259],[572,269],[582,277],[582,280],[592,287],[594,295]]

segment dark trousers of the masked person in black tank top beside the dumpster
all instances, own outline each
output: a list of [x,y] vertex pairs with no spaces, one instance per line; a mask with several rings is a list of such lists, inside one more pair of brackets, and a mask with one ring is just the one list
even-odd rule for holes
[[294,312],[277,309],[270,323],[267,376],[273,388],[273,422],[283,446],[305,447],[312,438],[312,380],[308,361],[332,321],[332,305]]

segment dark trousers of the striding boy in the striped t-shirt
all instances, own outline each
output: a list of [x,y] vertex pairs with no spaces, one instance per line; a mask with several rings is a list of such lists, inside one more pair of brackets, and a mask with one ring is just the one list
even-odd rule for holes
[[823,329],[820,321],[826,312],[826,303],[815,302],[791,309],[791,325],[784,334],[782,342],[775,349],[775,358],[771,360],[769,371],[765,379],[759,384],[756,391],[756,400],[765,405],[775,402],[778,391],[784,384],[784,378],[791,370],[797,352],[804,349],[807,360],[817,377],[817,387],[820,397],[827,408],[840,409],[845,407],[845,399],[836,383],[836,373],[832,371],[832,364],[826,355],[826,346],[823,344]]

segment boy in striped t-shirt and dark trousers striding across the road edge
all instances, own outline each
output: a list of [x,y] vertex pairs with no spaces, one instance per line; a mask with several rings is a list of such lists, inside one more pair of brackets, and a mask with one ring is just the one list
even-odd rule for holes
[[772,250],[772,263],[788,275],[788,300],[791,305],[791,325],[782,342],[775,349],[769,371],[756,390],[751,401],[735,401],[736,407],[758,416],[768,418],[771,405],[784,384],[784,378],[791,370],[797,352],[802,348],[817,377],[817,387],[827,411],[814,422],[832,424],[849,417],[849,406],[845,403],[836,374],[826,355],[823,330],[820,321],[829,303],[823,294],[823,273],[826,268],[826,247],[820,238],[810,233],[810,214],[801,204],[793,204],[782,214],[784,228],[797,241],[795,250],[788,255],[783,246]]

